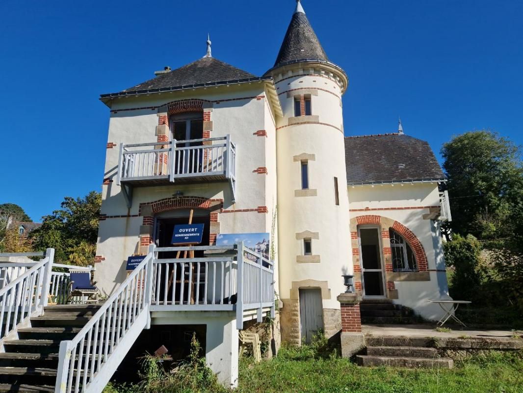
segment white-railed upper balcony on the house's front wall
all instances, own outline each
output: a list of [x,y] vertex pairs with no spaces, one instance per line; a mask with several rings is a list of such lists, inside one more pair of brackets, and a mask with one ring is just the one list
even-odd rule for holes
[[235,200],[236,146],[230,135],[120,144],[117,184],[129,206],[133,187],[208,181],[229,181]]

